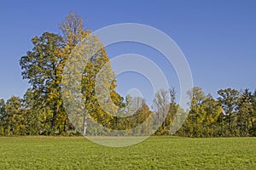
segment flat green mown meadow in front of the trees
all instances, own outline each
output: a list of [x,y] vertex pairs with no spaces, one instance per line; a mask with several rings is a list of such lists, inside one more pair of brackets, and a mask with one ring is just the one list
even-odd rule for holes
[[83,137],[0,138],[0,169],[256,169],[256,138],[150,137],[111,148]]

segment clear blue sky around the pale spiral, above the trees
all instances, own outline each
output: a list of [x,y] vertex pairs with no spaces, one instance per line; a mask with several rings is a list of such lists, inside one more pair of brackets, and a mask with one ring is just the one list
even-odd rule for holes
[[[92,31],[125,22],[164,31],[177,42],[188,59],[194,85],[206,93],[216,96],[220,88],[254,90],[255,9],[256,1],[253,0],[3,0],[0,2],[0,98],[25,93],[28,84],[20,76],[20,57],[32,49],[32,37],[40,36],[44,31],[61,33],[59,24],[70,11],[80,14],[85,27]],[[150,49],[136,44],[108,48],[110,57],[126,53],[156,54],[148,51]],[[118,80],[122,88],[122,77]]]

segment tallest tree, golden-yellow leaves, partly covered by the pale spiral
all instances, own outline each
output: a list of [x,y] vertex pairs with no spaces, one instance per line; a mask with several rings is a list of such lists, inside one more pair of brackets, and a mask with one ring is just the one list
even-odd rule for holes
[[[76,122],[75,124],[84,135],[87,131],[87,122],[90,122],[88,118],[102,124],[103,127],[111,127],[113,113],[124,105],[123,98],[115,91],[117,86],[115,75],[106,49],[95,35],[90,35],[90,31],[83,30],[82,19],[77,14],[69,14],[66,21],[61,24],[61,29],[66,43],[63,49],[64,56],[67,56],[61,65],[61,68],[65,69],[61,80],[62,84],[69,83],[65,86],[68,88],[65,99],[67,103],[77,101],[76,105],[79,105],[79,110],[73,108],[76,111],[70,111],[73,113],[69,117],[72,117],[72,122]],[[77,65],[67,64],[67,60]],[[70,72],[73,75],[70,75]],[[79,75],[80,73],[82,75]],[[77,82],[77,77],[82,77],[81,82],[78,82],[79,86],[73,84]],[[77,94],[80,94],[80,89],[81,97],[67,99],[73,95],[72,91],[77,90]]]

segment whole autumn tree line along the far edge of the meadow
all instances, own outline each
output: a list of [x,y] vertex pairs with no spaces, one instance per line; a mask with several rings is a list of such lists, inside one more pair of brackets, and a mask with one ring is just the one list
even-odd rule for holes
[[[7,101],[0,100],[0,135],[104,135],[112,131],[113,135],[148,135],[154,129],[155,135],[256,136],[256,91],[220,89],[218,98],[213,99],[211,94],[206,95],[202,88],[195,87],[188,93],[189,111],[183,111],[176,102],[174,88],[160,89],[149,108],[139,97],[123,98],[116,92],[115,75],[108,64],[106,49],[90,30],[84,30],[78,14],[67,15],[61,31],[62,35],[44,32],[40,37],[33,37],[32,50],[20,57],[21,76],[31,86],[22,99],[13,96]],[[79,44],[85,48],[78,51],[96,51],[86,56],[75,54],[79,59],[86,58],[87,63],[79,87],[82,105],[71,116],[67,115],[63,98],[71,102],[78,99],[69,98],[68,92],[63,94],[61,86],[67,76],[63,75],[67,61]],[[78,65],[69,66],[73,69]],[[102,69],[99,85],[96,75]],[[105,104],[107,109],[102,108]],[[90,120],[100,123],[102,128],[92,126]],[[174,124],[181,126],[177,132]]]

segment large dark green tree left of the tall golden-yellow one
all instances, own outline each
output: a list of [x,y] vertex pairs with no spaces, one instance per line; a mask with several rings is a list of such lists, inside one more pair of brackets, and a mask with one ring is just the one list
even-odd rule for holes
[[33,37],[34,48],[20,59],[22,77],[28,79],[32,90],[40,96],[40,104],[49,106],[51,128],[55,130],[58,115],[63,115],[61,108],[60,76],[57,68],[61,64],[62,56],[58,51],[64,47],[63,38],[59,35],[44,32],[41,37]]

